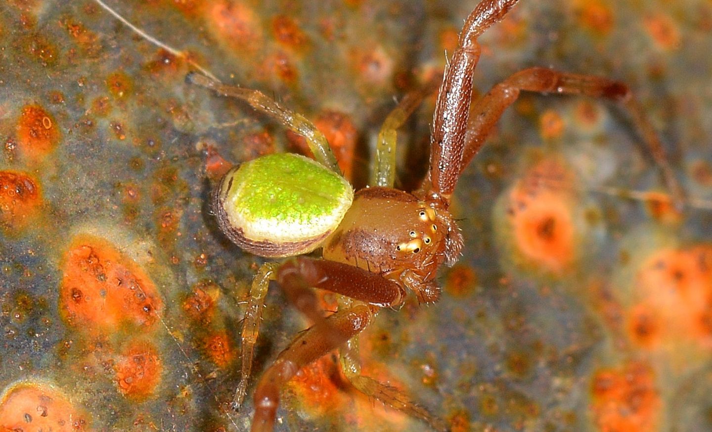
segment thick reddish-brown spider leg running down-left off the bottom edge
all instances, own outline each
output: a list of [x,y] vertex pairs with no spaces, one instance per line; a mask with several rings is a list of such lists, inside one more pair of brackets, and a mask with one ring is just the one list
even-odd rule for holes
[[371,323],[372,317],[371,307],[361,304],[336,312],[297,336],[257,384],[252,431],[271,432],[283,385],[303,366],[359,334]]

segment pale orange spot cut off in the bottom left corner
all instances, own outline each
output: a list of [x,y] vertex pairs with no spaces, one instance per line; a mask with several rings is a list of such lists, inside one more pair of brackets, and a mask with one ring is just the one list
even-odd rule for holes
[[83,432],[89,419],[67,396],[43,384],[18,384],[0,398],[0,431]]

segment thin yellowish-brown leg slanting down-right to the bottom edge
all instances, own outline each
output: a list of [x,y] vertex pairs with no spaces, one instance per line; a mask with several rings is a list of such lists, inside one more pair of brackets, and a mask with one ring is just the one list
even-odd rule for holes
[[425,408],[412,401],[407,394],[395,387],[383,384],[375,379],[361,374],[359,360],[358,338],[349,339],[339,350],[341,370],[346,378],[358,391],[366,396],[378,399],[402,413],[426,421],[436,431],[446,431],[447,427],[441,418],[429,413]]

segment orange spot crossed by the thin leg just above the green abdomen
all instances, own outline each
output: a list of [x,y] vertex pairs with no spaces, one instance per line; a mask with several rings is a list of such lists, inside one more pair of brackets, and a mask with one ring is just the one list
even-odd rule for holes
[[[333,150],[344,177],[352,180],[354,151],[358,139],[358,130],[351,118],[338,111],[326,110],[314,121],[314,125],[324,134]],[[288,132],[287,137],[295,144],[300,153],[313,157],[306,141],[300,135]]]

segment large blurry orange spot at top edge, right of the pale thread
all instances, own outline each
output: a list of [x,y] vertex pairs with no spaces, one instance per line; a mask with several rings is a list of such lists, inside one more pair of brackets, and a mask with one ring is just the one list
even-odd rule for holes
[[230,48],[253,53],[263,46],[259,18],[244,3],[216,1],[206,11],[207,28]]

